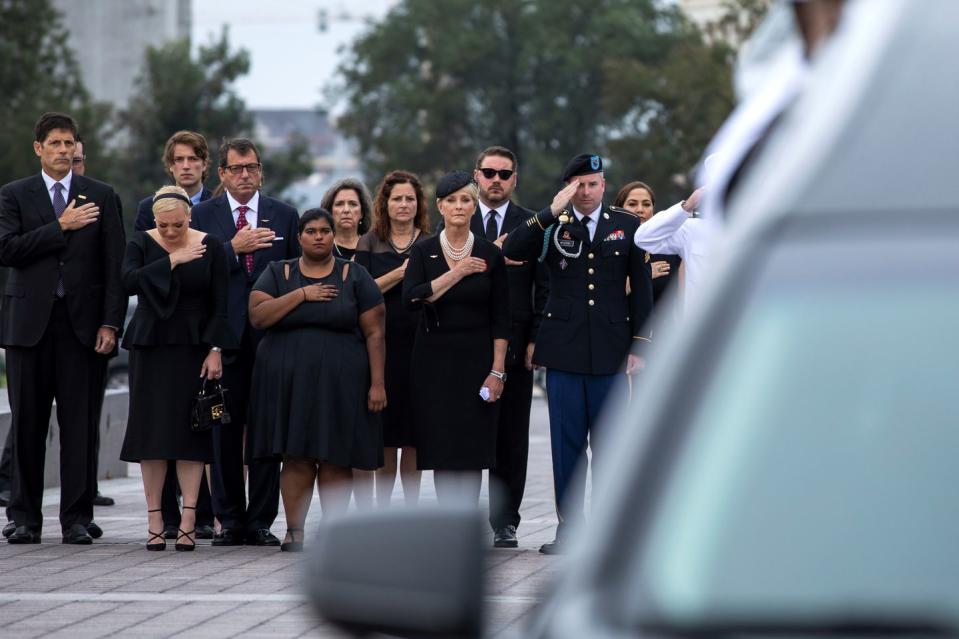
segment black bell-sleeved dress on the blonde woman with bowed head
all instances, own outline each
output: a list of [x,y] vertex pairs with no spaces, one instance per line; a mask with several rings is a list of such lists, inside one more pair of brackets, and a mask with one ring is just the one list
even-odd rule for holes
[[220,242],[203,238],[202,258],[170,268],[170,254],[145,231],[127,244],[123,286],[137,309],[123,337],[130,351],[130,412],[120,459],[213,459],[210,433],[190,430],[200,368],[211,346],[233,348],[226,317],[228,264]]

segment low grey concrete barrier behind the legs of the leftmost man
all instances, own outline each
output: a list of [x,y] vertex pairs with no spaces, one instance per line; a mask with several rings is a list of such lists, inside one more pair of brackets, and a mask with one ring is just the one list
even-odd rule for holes
[[[6,391],[3,392],[4,396]],[[4,397],[6,399],[6,397]],[[10,430],[10,408],[6,402],[0,407],[0,446]],[[103,400],[100,415],[100,463],[97,467],[100,479],[127,476],[127,463],[120,461],[120,447],[127,428],[127,411],[130,395],[127,390],[109,390]],[[52,488],[60,485],[60,427],[57,424],[56,406],[50,417],[47,434],[47,456],[43,467],[43,485]]]

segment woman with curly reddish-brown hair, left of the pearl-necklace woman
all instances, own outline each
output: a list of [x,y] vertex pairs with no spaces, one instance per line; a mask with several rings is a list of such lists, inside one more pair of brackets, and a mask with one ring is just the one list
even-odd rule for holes
[[373,227],[360,238],[355,261],[376,280],[386,301],[386,393],[390,404],[383,414],[383,468],[376,473],[376,502],[388,506],[396,482],[397,456],[403,496],[415,505],[420,495],[410,407],[410,353],[416,316],[403,305],[403,274],[410,250],[429,237],[426,199],[419,178],[408,171],[391,171],[373,200]]

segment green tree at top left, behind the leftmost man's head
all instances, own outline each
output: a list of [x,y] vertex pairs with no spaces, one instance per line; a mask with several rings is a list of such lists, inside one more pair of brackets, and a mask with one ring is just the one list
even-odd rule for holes
[[36,173],[33,126],[45,111],[78,122],[88,149],[102,148],[109,107],[94,103],[49,0],[0,0],[0,184]]

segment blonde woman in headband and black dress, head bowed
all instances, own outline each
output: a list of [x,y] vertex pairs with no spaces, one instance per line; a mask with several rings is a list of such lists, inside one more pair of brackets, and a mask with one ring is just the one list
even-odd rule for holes
[[160,496],[167,460],[183,492],[177,550],[193,550],[196,500],[209,432],[190,430],[201,378],[223,375],[220,349],[236,346],[226,316],[228,265],[220,241],[190,228],[190,198],[178,186],[153,197],[156,228],[130,238],[122,278],[137,310],[123,347],[130,351],[130,413],[120,459],[139,462],[149,525],[147,550],[163,550]]

